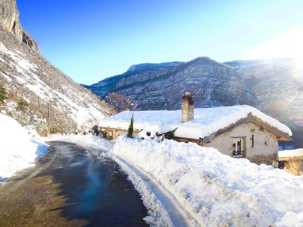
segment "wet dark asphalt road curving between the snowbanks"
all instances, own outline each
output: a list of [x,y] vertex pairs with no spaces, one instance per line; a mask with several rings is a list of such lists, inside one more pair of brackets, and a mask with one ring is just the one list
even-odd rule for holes
[[148,226],[117,163],[72,143],[48,144],[35,167],[0,185],[0,226]]

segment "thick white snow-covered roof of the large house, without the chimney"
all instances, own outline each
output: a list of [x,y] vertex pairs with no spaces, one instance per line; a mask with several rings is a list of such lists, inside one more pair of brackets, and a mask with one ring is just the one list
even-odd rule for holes
[[[281,132],[292,135],[286,125],[247,105],[195,109],[194,120],[185,123],[181,121],[181,110],[135,111],[134,130],[142,130],[138,136],[146,137],[146,132],[155,135],[156,132],[166,133],[178,127],[176,137],[199,139],[248,117],[250,113]],[[131,117],[132,111],[123,111],[101,120],[100,126],[128,129]]]

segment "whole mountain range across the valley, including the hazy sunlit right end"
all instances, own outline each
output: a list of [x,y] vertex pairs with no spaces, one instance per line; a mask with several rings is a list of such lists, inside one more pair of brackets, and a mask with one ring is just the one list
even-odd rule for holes
[[131,96],[139,110],[181,109],[186,91],[194,95],[195,108],[248,104],[291,127],[291,143],[303,146],[302,75],[290,58],[219,63],[200,57],[134,65],[85,87],[101,97],[109,91]]

